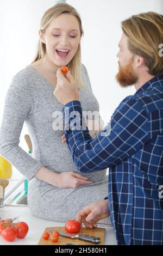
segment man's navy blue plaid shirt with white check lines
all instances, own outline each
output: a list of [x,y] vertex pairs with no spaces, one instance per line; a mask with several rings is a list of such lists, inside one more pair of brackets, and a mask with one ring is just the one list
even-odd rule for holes
[[107,126],[94,139],[87,129],[70,129],[70,122],[81,127],[84,122],[79,101],[67,103],[63,113],[66,143],[79,171],[109,167],[109,209],[118,245],[162,245],[163,76],[120,103],[105,136]]

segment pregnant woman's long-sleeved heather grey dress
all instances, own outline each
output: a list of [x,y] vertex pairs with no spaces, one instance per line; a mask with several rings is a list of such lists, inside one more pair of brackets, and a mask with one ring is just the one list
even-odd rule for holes
[[[82,65],[85,87],[79,90],[83,111],[99,111],[92,93],[89,76]],[[106,170],[83,175],[93,184],[78,188],[58,188],[34,177],[41,166],[54,172],[78,172],[70,151],[62,143],[63,131],[53,130],[54,111],[63,105],[53,95],[54,87],[32,65],[18,72],[10,84],[0,132],[0,154],[11,162],[29,181],[28,205],[33,215],[51,221],[65,222],[76,218],[87,204],[108,195]],[[33,144],[33,156],[18,144],[23,123]]]

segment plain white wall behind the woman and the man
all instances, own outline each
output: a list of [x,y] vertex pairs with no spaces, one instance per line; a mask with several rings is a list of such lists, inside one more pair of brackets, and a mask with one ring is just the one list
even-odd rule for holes
[[[32,62],[41,17],[52,7],[54,0],[1,0],[0,2],[0,122],[4,97],[12,76]],[[83,20],[82,59],[89,71],[93,92],[106,123],[118,103],[134,88],[122,89],[115,81],[117,72],[118,40],[121,38],[121,21],[143,11],[163,12],[162,0],[70,0]],[[107,114],[104,112],[108,112]],[[22,147],[27,149],[21,135]]]

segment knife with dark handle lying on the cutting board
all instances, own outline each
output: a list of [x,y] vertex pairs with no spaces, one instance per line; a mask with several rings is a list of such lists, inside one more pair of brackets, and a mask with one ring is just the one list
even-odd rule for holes
[[[54,230],[48,230],[49,232],[52,232]],[[84,240],[86,242],[91,242],[91,243],[99,243],[100,242],[100,238],[99,237],[96,237],[96,236],[91,236],[91,235],[77,235],[77,234],[70,234],[70,233],[65,233],[65,232],[60,232],[59,231],[59,234],[61,236],[65,236],[65,237],[68,237],[68,238],[71,238],[71,239],[80,239],[80,240]]]

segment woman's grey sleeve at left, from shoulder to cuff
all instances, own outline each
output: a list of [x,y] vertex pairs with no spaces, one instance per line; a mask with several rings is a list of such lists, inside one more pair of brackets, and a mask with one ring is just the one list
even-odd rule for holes
[[19,72],[12,78],[5,105],[0,130],[0,154],[5,157],[28,180],[32,179],[42,166],[20,146],[20,134],[24,120],[33,108],[30,84],[25,74]]

